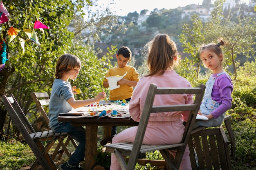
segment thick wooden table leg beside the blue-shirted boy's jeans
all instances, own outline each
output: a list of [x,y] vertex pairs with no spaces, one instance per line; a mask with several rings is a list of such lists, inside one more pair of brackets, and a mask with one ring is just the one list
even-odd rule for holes
[[86,126],[85,130],[85,170],[93,170],[96,165],[98,126]]

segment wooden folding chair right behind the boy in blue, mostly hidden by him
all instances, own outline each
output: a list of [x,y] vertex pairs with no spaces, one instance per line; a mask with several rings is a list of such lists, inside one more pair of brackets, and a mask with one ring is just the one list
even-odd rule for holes
[[[49,102],[50,102],[49,95],[47,93],[36,93],[36,92],[31,92],[30,95],[31,95],[32,99],[34,100],[34,102],[36,103],[36,106],[38,107],[40,113],[45,118],[45,121],[49,125],[49,117],[48,117],[47,113],[45,112],[45,109],[43,108],[43,106],[48,106],[49,105]],[[68,135],[67,135],[67,139],[65,141],[65,146],[67,146],[70,141],[72,142],[73,146],[76,148],[77,147],[76,141]],[[63,149],[59,150],[60,147],[61,147],[61,145],[58,144],[54,153],[53,153],[53,155],[52,155],[53,157],[55,157],[56,155],[59,154],[58,155],[58,160],[61,159],[61,157],[64,153]],[[71,153],[68,152],[67,156],[70,157]]]

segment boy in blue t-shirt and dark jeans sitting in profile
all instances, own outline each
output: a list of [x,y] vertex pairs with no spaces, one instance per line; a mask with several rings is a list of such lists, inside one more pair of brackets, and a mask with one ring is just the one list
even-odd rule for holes
[[49,126],[53,132],[67,132],[67,134],[79,142],[76,150],[69,160],[60,166],[60,170],[81,170],[79,163],[85,157],[85,129],[82,126],[72,126],[70,122],[58,122],[60,113],[67,113],[73,108],[79,108],[99,102],[106,97],[104,92],[92,99],[75,100],[75,86],[71,86],[69,79],[76,79],[81,68],[81,61],[72,54],[62,55],[56,64],[56,79],[52,86],[49,102]]

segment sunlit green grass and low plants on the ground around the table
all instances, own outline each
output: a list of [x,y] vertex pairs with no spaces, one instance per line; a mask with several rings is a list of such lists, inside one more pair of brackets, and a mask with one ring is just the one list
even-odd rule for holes
[[[231,115],[231,127],[236,138],[236,161],[232,162],[232,170],[256,170],[256,67],[255,62],[247,63],[238,69],[238,77],[233,81],[234,91],[232,93],[232,107],[227,114]],[[194,85],[196,86],[196,85]],[[117,132],[127,128],[118,126]],[[101,153],[99,142],[103,136],[103,128],[98,129],[98,151],[97,162],[108,170],[110,166],[109,153]],[[35,161],[35,156],[24,141],[4,136],[0,141],[0,169],[1,170],[28,170]],[[74,150],[72,144],[69,150]],[[53,152],[51,150],[50,152]],[[158,152],[147,154],[148,159],[162,159]],[[67,161],[67,156],[58,161],[56,165]],[[81,163],[81,165],[83,165]],[[136,166],[136,170],[157,170],[158,167]],[[37,170],[42,170],[38,168]]]

